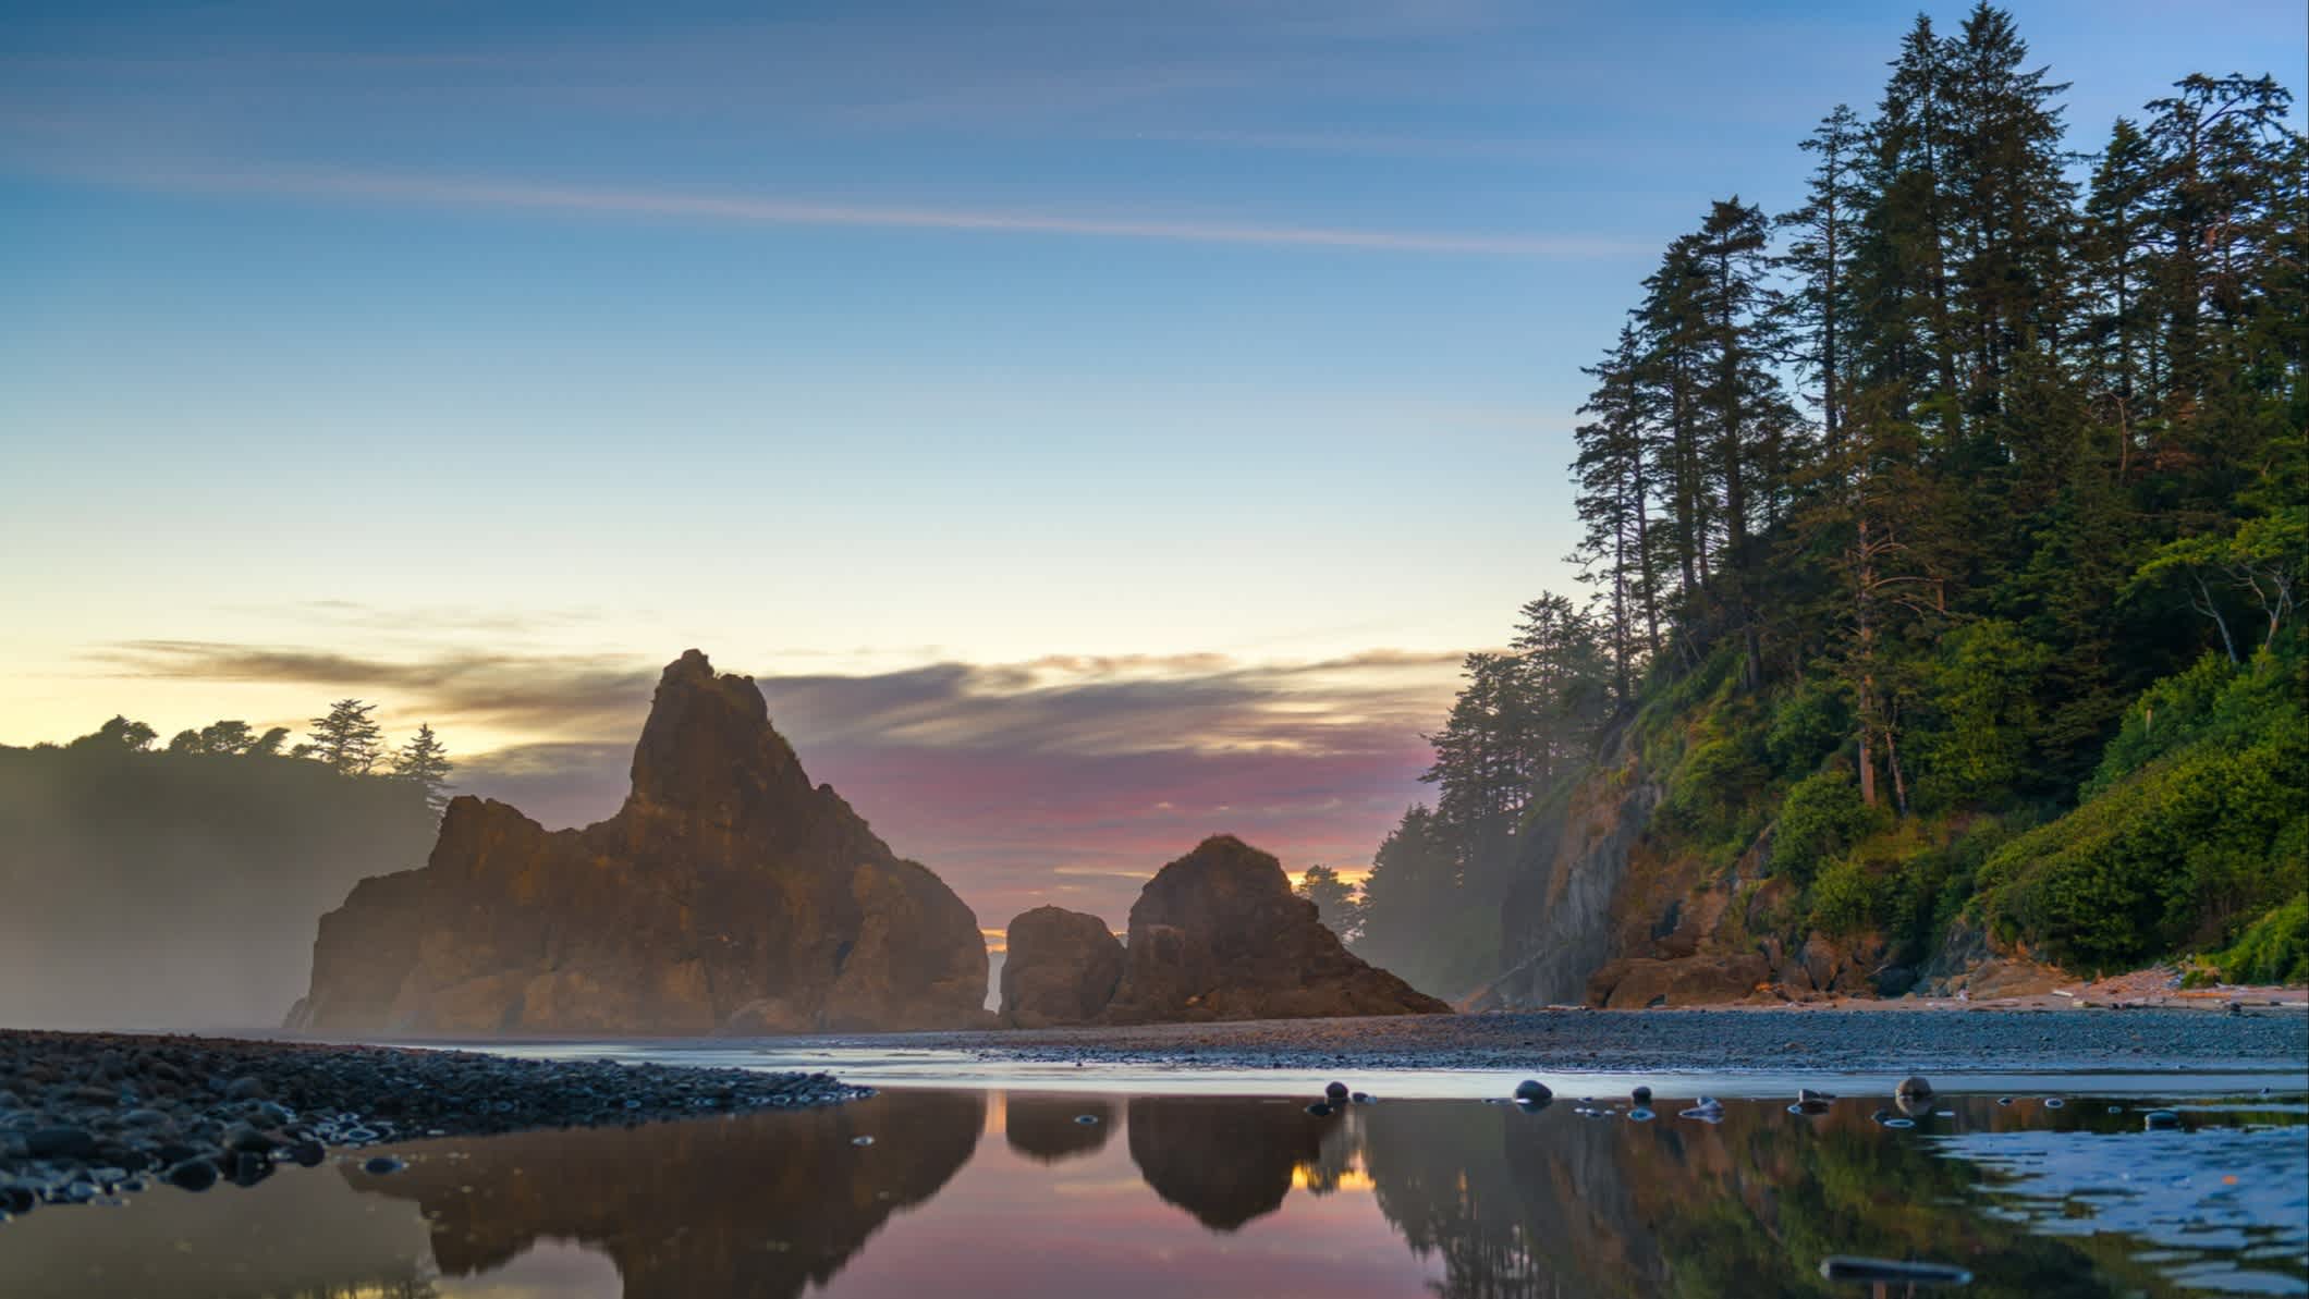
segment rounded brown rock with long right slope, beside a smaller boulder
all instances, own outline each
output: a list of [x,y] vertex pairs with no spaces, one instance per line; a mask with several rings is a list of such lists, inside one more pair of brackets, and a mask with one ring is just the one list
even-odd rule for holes
[[[1346,951],[1272,856],[1231,835],[1161,868],[1131,907],[1115,1024],[1429,1015],[1450,1006]],[[1136,1140],[1134,1140],[1136,1144]]]

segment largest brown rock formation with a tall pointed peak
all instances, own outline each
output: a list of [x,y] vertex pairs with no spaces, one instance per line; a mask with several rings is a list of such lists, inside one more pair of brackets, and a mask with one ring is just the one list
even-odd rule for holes
[[321,918],[316,1034],[774,1034],[984,1020],[986,939],[810,787],[746,676],[665,669],[607,821],[457,798],[423,870]]

